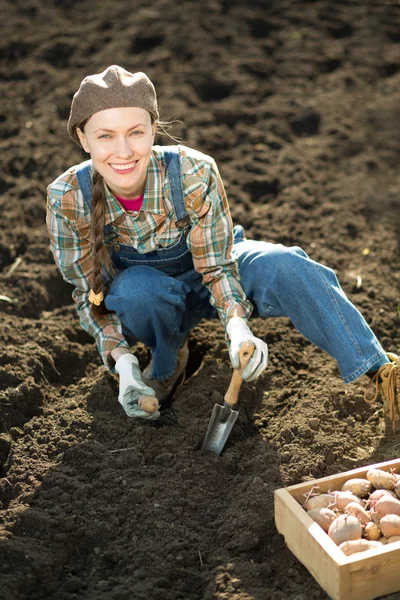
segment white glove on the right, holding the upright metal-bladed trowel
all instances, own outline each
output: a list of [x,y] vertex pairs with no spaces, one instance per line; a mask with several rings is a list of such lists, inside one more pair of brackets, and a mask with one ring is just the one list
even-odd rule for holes
[[232,367],[240,367],[239,349],[243,342],[252,342],[254,344],[254,353],[248,365],[242,373],[242,379],[245,381],[254,381],[265,370],[268,363],[268,346],[260,338],[255,337],[249,329],[246,321],[241,317],[232,317],[226,327],[226,333],[230,339],[229,357]]

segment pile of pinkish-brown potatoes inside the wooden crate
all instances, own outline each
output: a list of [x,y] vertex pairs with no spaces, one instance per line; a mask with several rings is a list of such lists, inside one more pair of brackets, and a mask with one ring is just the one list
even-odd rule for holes
[[307,495],[304,508],[347,555],[400,540],[400,475],[370,469],[340,491]]

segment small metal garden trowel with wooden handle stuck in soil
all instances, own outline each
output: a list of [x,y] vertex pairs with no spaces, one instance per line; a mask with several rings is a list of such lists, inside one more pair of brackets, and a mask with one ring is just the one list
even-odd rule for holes
[[233,369],[231,383],[225,394],[224,404],[215,404],[211,415],[206,437],[204,439],[203,451],[214,452],[217,456],[221,454],[222,448],[232,427],[238,418],[239,411],[233,410],[237,404],[240,386],[242,385],[242,373],[249,360],[253,356],[254,344],[244,342],[239,350],[239,368]]

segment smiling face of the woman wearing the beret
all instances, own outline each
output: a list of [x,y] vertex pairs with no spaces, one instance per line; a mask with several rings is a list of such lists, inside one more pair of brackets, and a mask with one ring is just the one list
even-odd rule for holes
[[108,108],[77,129],[93,166],[112,192],[122,198],[143,194],[156,123],[144,108]]

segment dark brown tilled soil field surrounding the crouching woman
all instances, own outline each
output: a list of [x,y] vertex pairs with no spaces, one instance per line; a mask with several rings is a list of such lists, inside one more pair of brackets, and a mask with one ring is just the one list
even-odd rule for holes
[[399,457],[367,380],[344,385],[288,319],[255,319],[269,367],[243,386],[223,454],[202,455],[231,376],[222,327],[203,322],[172,407],[129,419],[53,263],[45,190],[84,158],[66,133],[81,79],[143,70],[175,135],[217,160],[235,223],[334,268],[399,351],[400,7],[4,0],[1,13],[0,597],[327,598],[277,533],[273,492]]

